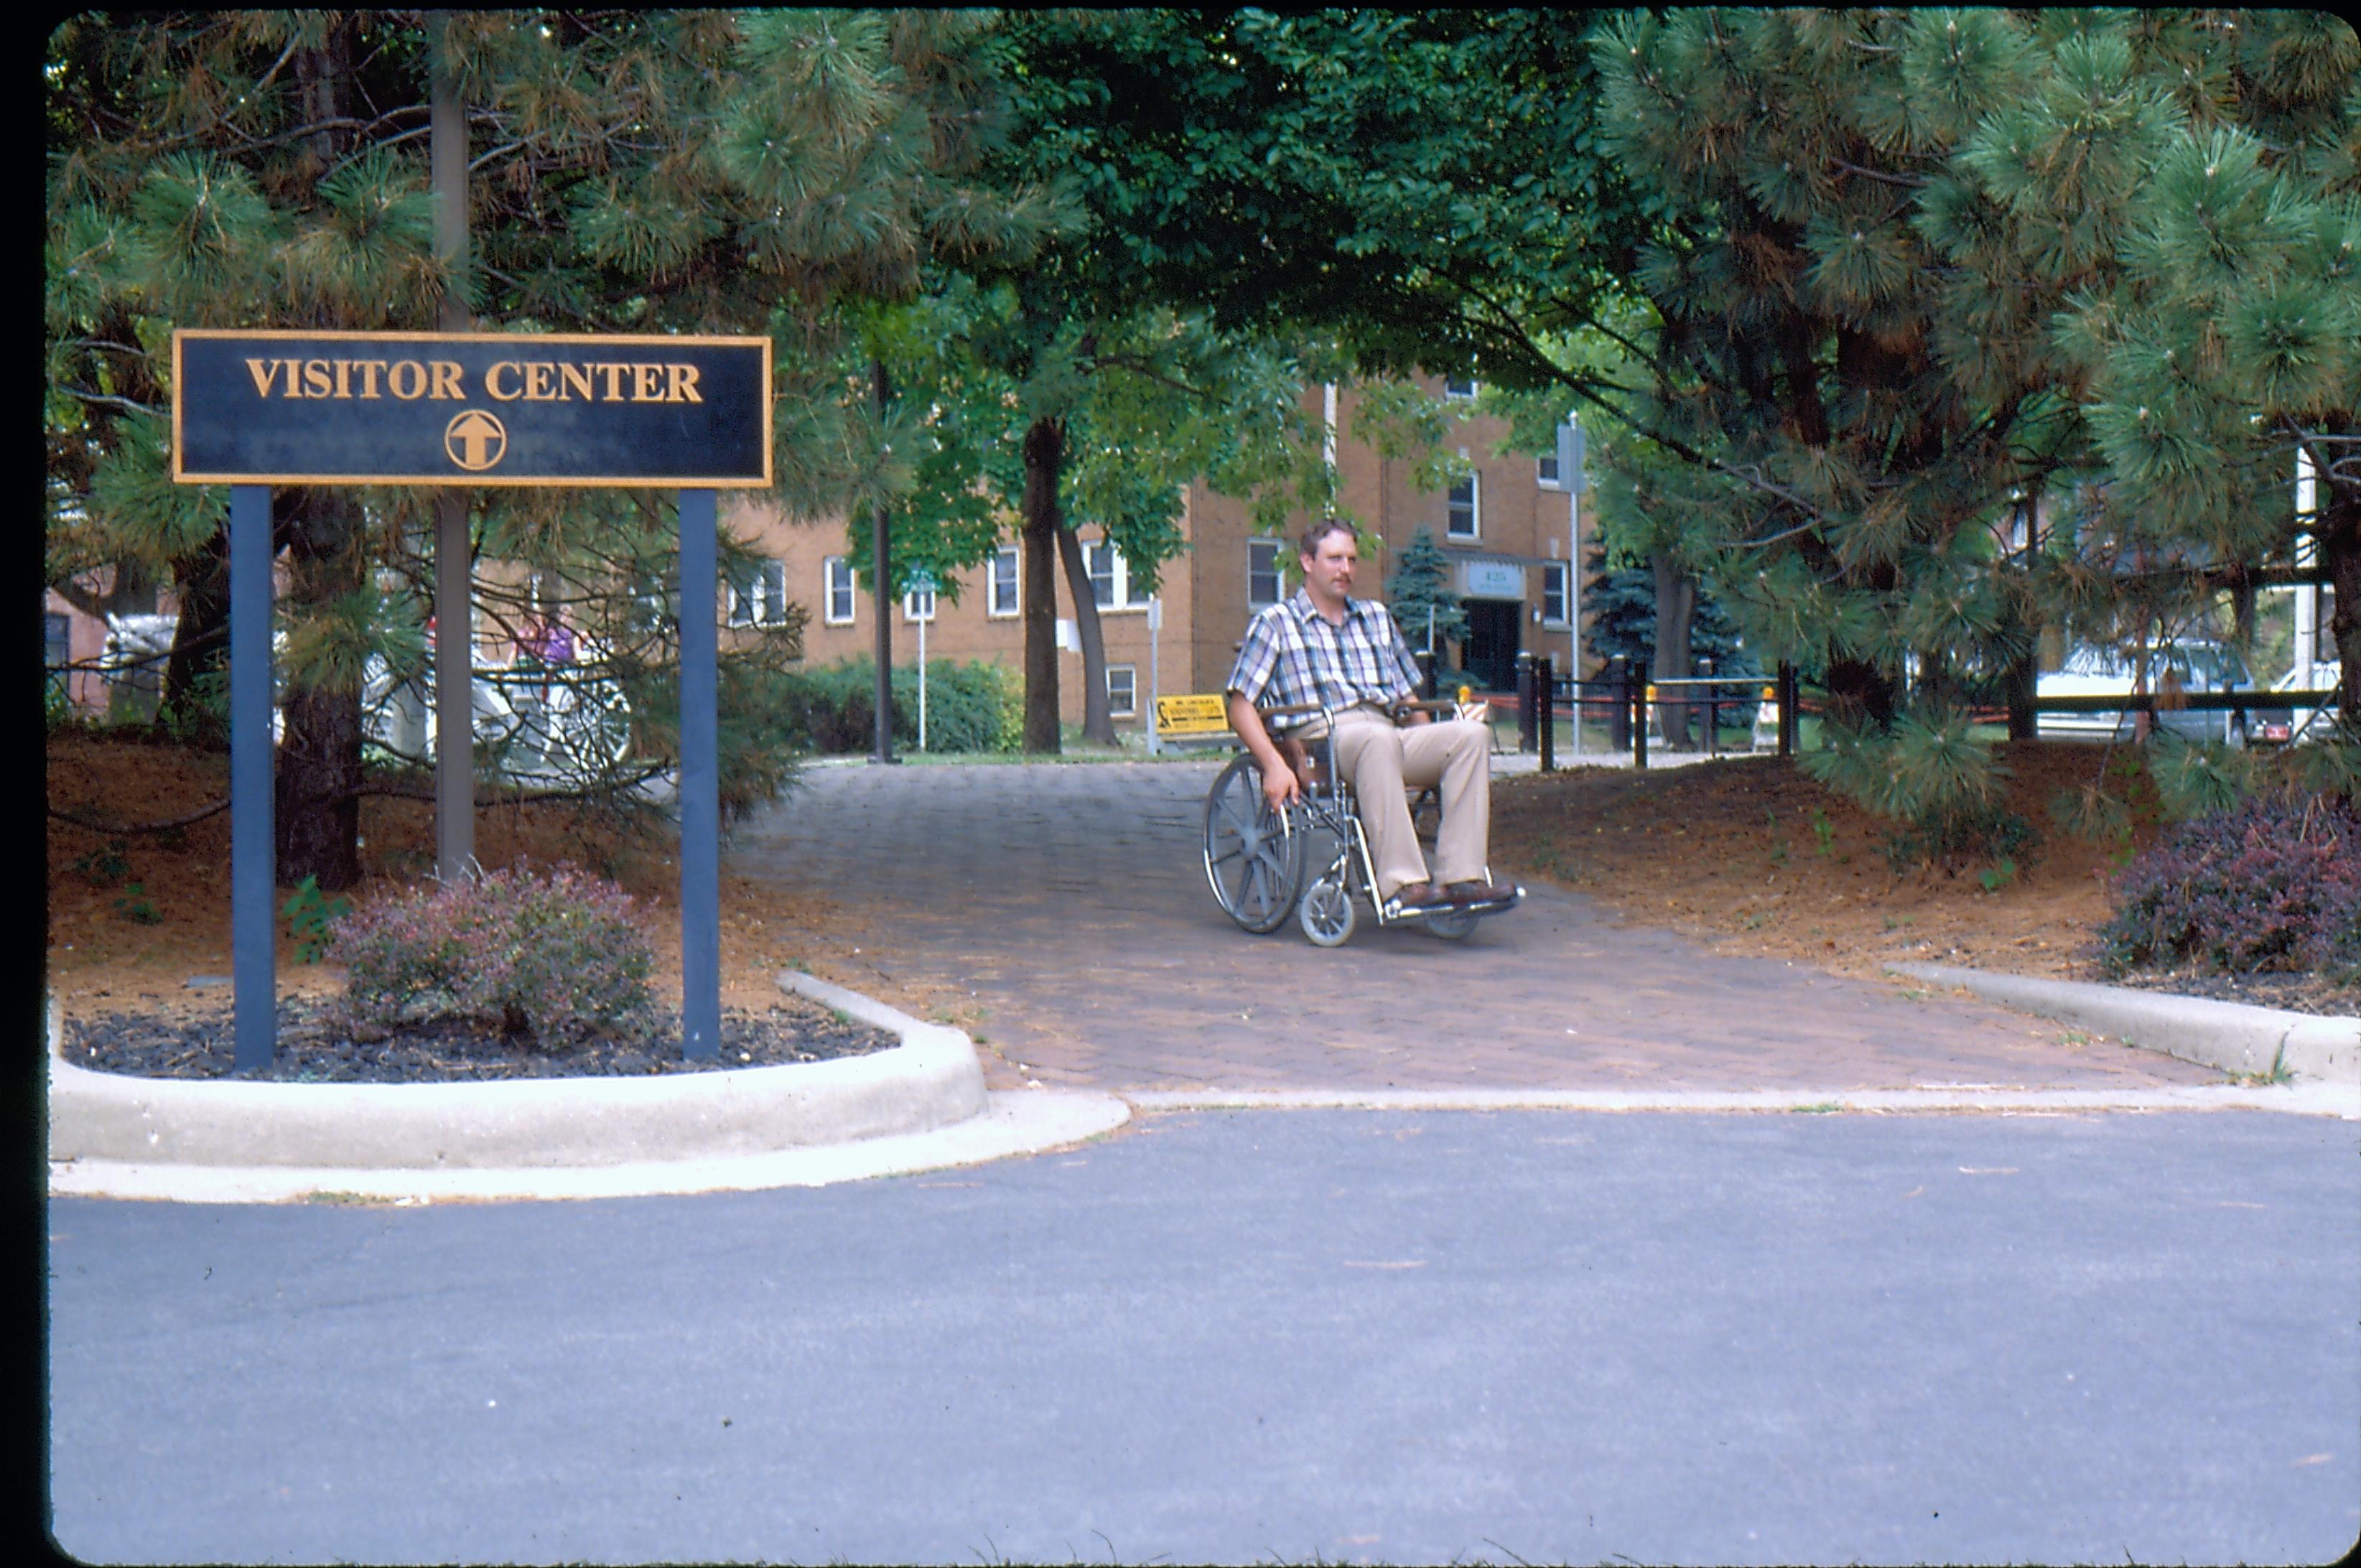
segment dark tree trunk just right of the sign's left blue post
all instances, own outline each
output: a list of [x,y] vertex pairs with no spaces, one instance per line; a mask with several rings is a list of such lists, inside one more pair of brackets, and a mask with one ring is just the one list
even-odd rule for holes
[[[328,605],[366,583],[361,510],[342,489],[279,491],[288,508],[288,600]],[[286,685],[272,789],[279,886],[361,881],[361,687]]]

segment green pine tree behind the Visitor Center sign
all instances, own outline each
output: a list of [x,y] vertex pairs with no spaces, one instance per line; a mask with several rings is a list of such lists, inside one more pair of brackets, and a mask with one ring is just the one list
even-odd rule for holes
[[[432,260],[427,40],[416,14],[85,17],[50,40],[50,571],[99,562],[184,586],[175,706],[220,645],[224,496],[165,482],[172,326],[432,328],[446,290],[482,326],[770,331],[779,494],[883,505],[892,411],[848,394],[848,300],[909,298],[937,260],[1022,248],[1041,198],[973,179],[994,135],[992,26],[973,14],[463,14],[451,47],[475,149],[472,260]],[[907,423],[907,416],[904,416]],[[666,496],[493,491],[484,557],[567,602],[671,739],[678,656]],[[281,491],[290,550],[279,869],[357,871],[359,685],[423,654],[430,527],[413,491]],[[392,593],[380,588],[390,574]],[[123,574],[116,574],[123,581]],[[484,579],[484,612],[534,605]],[[182,652],[194,654],[189,661]],[[793,638],[751,656],[777,664]],[[725,671],[725,687],[734,680]],[[725,760],[763,756],[725,706]],[[770,741],[777,751],[777,739]],[[777,758],[739,772],[751,793]],[[725,791],[727,791],[725,779]]]

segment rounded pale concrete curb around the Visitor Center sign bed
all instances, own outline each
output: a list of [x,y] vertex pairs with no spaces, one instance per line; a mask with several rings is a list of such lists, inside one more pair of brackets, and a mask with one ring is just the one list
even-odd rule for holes
[[1058,1148],[1129,1117],[1112,1096],[987,1096],[959,1030],[812,975],[779,985],[902,1044],[637,1079],[224,1084],[76,1067],[52,1008],[50,1190],[434,1202],[817,1185]]

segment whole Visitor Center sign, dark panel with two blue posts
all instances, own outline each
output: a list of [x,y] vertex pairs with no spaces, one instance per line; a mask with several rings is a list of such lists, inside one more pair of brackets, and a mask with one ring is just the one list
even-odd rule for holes
[[[172,371],[172,479],[229,484],[236,1067],[269,1067],[279,1034],[274,484],[680,486],[680,1048],[718,1056],[713,491],[772,482],[770,340],[177,331]],[[465,602],[439,607],[458,647],[467,614]],[[439,746],[465,756],[470,737],[444,730]]]

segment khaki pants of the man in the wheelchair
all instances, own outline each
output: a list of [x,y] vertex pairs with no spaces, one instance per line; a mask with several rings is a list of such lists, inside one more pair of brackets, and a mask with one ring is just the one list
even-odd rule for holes
[[[1336,716],[1336,767],[1360,801],[1376,895],[1393,897],[1417,881],[1483,881],[1492,834],[1492,727],[1466,718],[1395,727],[1372,708]],[[1410,789],[1443,789],[1443,827],[1428,876],[1419,834],[1410,827]]]

